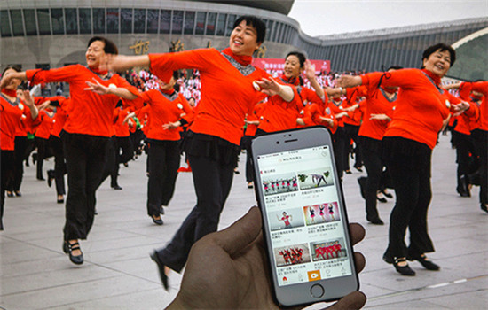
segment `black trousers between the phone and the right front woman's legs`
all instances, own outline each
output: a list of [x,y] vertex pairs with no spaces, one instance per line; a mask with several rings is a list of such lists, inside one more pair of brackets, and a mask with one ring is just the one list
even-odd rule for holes
[[376,207],[376,192],[382,185],[383,160],[382,140],[373,139],[367,136],[358,136],[359,146],[363,154],[363,161],[366,167],[366,217],[374,219],[378,217]]

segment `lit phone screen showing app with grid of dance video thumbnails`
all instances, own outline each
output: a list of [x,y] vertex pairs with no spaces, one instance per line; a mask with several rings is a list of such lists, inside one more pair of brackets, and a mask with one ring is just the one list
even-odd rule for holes
[[350,275],[330,148],[260,155],[257,163],[279,286]]

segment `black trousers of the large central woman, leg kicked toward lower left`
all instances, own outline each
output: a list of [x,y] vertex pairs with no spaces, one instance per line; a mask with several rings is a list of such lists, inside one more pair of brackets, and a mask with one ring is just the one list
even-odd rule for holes
[[192,245],[216,231],[220,213],[232,186],[234,163],[223,165],[207,157],[188,155],[193,171],[197,205],[186,217],[166,248],[157,251],[161,261],[180,272]]

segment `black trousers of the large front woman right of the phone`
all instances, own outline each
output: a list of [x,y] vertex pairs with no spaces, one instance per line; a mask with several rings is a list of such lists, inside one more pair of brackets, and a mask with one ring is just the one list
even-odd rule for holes
[[[424,143],[402,137],[383,138],[383,159],[397,198],[390,215],[387,255],[417,256],[434,251],[427,229],[427,212],[432,198],[431,156],[432,150]],[[410,232],[408,248],[405,245],[407,228]]]

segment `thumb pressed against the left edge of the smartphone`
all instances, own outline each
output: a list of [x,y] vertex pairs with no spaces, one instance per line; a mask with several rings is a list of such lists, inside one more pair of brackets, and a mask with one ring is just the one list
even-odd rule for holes
[[209,236],[232,256],[256,240],[261,225],[261,211],[254,206],[232,226]]

